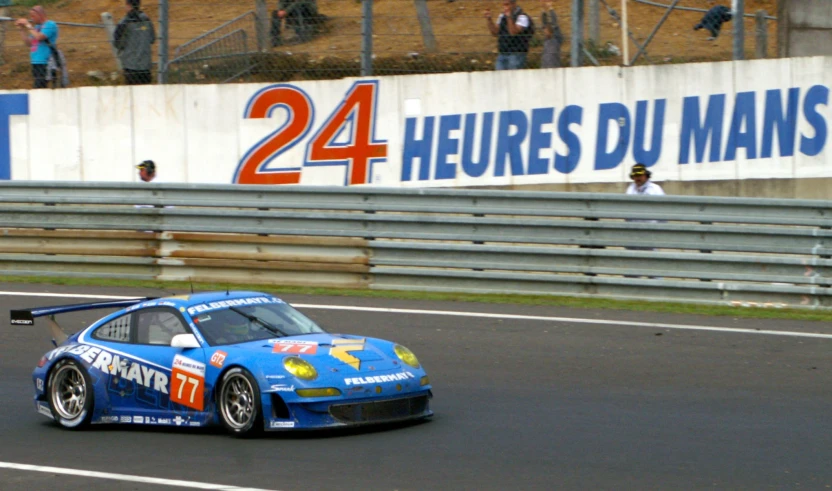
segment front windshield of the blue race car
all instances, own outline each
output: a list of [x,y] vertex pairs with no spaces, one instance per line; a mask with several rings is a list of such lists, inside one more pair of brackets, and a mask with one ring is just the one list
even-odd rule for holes
[[296,336],[326,332],[285,303],[235,306],[196,314],[193,319],[211,346],[271,339],[280,337],[279,333]]

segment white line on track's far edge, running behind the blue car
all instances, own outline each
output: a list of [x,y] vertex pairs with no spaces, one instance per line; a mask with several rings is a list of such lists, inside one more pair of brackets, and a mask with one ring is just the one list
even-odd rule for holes
[[[137,297],[119,297],[113,295],[84,295],[84,294],[64,294],[64,293],[33,293],[33,292],[2,292],[0,295],[7,296],[25,296],[25,297],[63,297],[63,298],[88,298],[88,299],[110,299],[110,300],[129,300]],[[650,327],[653,329],[681,329],[692,331],[712,331],[712,332],[727,332],[736,334],[763,334],[768,336],[791,336],[802,338],[819,338],[832,339],[832,334],[820,334],[812,332],[797,332],[797,331],[771,331],[762,329],[740,329],[734,327],[713,327],[713,326],[697,326],[688,324],[663,324],[658,322],[634,322],[621,321],[612,319],[581,319],[572,317],[547,317],[539,315],[517,315],[517,314],[491,314],[486,312],[456,312],[448,310],[416,310],[416,309],[387,309],[381,307],[354,307],[350,305],[316,305],[316,304],[292,304],[301,309],[321,309],[321,310],[351,310],[356,312],[378,312],[385,314],[416,314],[416,315],[443,315],[454,317],[475,317],[487,319],[513,319],[513,320],[532,320],[545,322],[562,322],[572,324],[595,324],[595,325],[618,325],[631,327]]]

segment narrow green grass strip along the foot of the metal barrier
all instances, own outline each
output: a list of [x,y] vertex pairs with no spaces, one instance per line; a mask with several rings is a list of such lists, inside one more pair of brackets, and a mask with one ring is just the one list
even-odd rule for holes
[[[67,286],[103,286],[128,288],[154,288],[166,291],[189,291],[191,284],[175,281],[141,281],[93,278],[53,278],[40,276],[0,276],[0,282],[33,283]],[[446,292],[410,292],[394,290],[353,290],[341,288],[318,287],[270,287],[264,285],[194,283],[197,291],[256,290],[280,294],[326,295],[343,297],[387,298],[400,300],[431,300],[442,302],[471,302],[512,305],[535,305],[569,307],[578,309],[627,310],[636,312],[660,312],[671,314],[696,314],[721,317],[752,319],[783,319],[803,321],[832,321],[832,311],[808,309],[774,309],[759,307],[731,307],[720,305],[702,305],[650,301],[609,300],[605,298],[557,297],[548,295],[509,295],[509,294],[473,294]]]

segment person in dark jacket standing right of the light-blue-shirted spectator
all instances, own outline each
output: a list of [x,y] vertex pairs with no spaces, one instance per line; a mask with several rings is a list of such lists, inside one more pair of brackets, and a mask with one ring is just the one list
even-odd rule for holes
[[127,15],[113,33],[113,45],[118,50],[127,85],[146,85],[153,81],[150,75],[153,63],[150,45],[156,41],[156,31],[153,21],[142,12],[141,5],[141,0],[126,0]]

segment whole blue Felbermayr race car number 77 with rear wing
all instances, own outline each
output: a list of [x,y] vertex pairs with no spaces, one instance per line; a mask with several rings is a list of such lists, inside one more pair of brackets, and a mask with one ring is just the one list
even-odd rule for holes
[[[71,336],[54,320],[116,307]],[[37,317],[47,317],[56,348],[35,368],[35,409],[65,428],[219,423],[248,436],[433,415],[428,376],[410,350],[329,334],[264,293],[13,310],[11,323]]]

